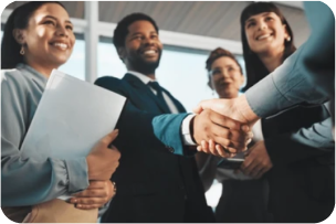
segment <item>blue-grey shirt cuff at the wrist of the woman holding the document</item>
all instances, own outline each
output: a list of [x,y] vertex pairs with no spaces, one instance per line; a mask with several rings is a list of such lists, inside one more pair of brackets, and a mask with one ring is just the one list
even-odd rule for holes
[[65,160],[65,166],[69,174],[69,192],[76,193],[87,189],[90,183],[86,158]]

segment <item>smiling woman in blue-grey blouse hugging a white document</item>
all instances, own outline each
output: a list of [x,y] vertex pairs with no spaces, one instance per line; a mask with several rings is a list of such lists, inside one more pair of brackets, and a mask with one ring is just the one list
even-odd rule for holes
[[[115,194],[109,181],[119,152],[104,137],[87,157],[60,160],[21,158],[21,145],[53,68],[75,43],[73,24],[60,2],[28,2],[4,24],[1,43],[1,211],[15,223],[97,222],[98,207]],[[72,194],[70,203],[59,200]]]

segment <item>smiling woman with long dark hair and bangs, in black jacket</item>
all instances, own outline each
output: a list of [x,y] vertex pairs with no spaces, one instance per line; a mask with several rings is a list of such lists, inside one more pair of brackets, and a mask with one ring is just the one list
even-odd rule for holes
[[[288,22],[273,3],[251,3],[240,21],[245,90],[276,70],[296,49]],[[291,138],[328,116],[325,106],[319,105],[296,107],[262,119],[264,140],[249,150],[241,170],[248,175],[267,178],[275,223],[324,223],[335,212],[335,199],[330,196],[335,189],[328,189],[334,178],[328,170],[335,169],[330,153]]]

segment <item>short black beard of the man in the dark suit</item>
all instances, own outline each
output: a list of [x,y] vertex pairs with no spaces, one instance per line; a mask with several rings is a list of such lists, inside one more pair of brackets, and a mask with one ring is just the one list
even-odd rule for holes
[[140,56],[136,56],[133,60],[129,60],[133,70],[139,72],[141,74],[154,74],[156,68],[160,64],[161,52],[159,52],[159,56],[156,61],[146,61]]

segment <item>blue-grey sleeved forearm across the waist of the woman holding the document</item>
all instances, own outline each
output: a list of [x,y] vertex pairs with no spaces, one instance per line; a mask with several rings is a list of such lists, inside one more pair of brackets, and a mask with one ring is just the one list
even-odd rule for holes
[[[3,142],[2,142],[3,143]],[[2,145],[2,149],[6,145]],[[45,202],[87,188],[85,158],[36,162],[19,154],[1,157],[2,206],[24,206]]]

